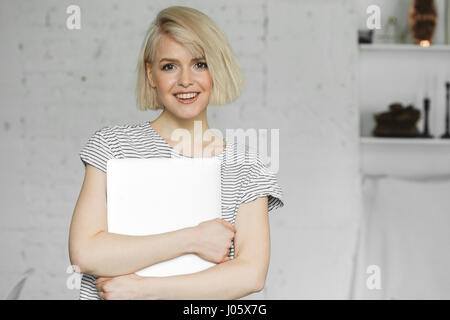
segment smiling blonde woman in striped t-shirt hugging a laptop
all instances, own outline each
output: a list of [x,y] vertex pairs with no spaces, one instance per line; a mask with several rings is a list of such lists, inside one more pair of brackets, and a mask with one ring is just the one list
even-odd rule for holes
[[[276,176],[249,148],[238,152],[234,142],[214,136],[203,143],[193,134],[194,124],[202,133],[210,129],[209,103],[231,103],[241,91],[232,50],[209,17],[179,6],[157,15],[139,56],[137,104],[162,113],[152,122],[100,129],[80,152],[86,173],[69,239],[71,262],[83,273],[80,299],[236,299],[262,290],[270,255],[268,212],[283,206]],[[177,129],[194,137],[186,153],[175,150]],[[107,232],[108,159],[192,157],[189,150],[196,149],[202,155],[214,150],[211,156],[221,161],[222,219],[158,235]],[[170,277],[134,274],[188,253],[216,265]]]

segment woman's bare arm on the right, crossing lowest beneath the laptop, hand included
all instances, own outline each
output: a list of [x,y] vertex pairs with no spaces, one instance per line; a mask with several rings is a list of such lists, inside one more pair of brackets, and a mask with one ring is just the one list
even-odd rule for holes
[[[201,272],[170,276],[100,278],[103,299],[237,299],[264,288],[270,260],[267,197],[241,204],[236,217],[235,259]],[[133,287],[133,288],[131,288]],[[125,289],[127,288],[127,289]]]

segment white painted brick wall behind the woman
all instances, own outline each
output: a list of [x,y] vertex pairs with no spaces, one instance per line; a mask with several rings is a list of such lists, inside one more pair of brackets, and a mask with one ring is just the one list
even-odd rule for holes
[[0,3],[0,298],[28,268],[22,298],[72,299],[68,230],[84,169],[78,152],[105,125],[152,120],[134,104],[144,33],[170,4],[210,15],[246,78],[225,128],[280,128],[286,206],[270,217],[268,299],[347,298],[359,222],[352,0],[77,1],[82,29],[65,28],[61,1]]

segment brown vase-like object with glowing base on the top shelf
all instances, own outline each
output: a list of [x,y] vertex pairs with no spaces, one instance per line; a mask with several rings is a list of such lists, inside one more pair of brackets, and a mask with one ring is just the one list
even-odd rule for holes
[[437,25],[437,10],[434,0],[414,0],[409,9],[409,27],[415,44],[430,46]]

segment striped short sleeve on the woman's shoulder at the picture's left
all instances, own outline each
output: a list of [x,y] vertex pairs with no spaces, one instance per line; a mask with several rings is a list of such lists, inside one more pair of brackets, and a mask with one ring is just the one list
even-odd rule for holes
[[113,159],[113,153],[102,130],[97,130],[88,140],[86,145],[80,151],[80,159],[83,164],[91,166],[106,173],[106,162]]

